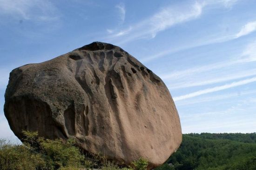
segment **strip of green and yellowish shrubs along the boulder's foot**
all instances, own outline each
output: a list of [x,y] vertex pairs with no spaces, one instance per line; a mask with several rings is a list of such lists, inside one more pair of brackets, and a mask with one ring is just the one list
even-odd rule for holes
[[0,170],[128,170],[100,154],[84,155],[74,139],[49,140],[29,131],[23,131],[23,134],[21,145],[0,140]]

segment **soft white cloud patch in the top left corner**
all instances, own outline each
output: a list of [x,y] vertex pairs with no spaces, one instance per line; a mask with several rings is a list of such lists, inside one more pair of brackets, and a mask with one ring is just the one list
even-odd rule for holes
[[0,0],[0,15],[20,20],[54,21],[58,10],[48,0]]

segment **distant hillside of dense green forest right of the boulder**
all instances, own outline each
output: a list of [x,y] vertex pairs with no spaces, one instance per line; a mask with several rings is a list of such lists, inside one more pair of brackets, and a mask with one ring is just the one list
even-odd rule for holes
[[183,134],[180,148],[158,170],[256,170],[256,133]]

